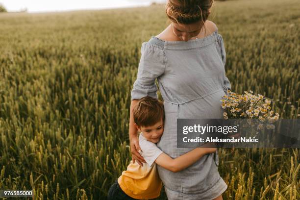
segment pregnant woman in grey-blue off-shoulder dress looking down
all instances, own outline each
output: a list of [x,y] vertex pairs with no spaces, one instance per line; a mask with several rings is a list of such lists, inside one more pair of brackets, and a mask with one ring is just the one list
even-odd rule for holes
[[[165,129],[157,147],[171,157],[177,149],[176,119],[220,119],[222,96],[231,89],[225,76],[225,47],[217,26],[207,21],[213,0],[169,0],[171,24],[141,48],[137,79],[131,91],[129,138],[133,162],[145,162],[132,109],[145,96],[157,98],[155,79],[164,100]],[[218,172],[218,154],[203,156],[189,168],[173,173],[158,166],[169,200],[222,200],[227,185]]]

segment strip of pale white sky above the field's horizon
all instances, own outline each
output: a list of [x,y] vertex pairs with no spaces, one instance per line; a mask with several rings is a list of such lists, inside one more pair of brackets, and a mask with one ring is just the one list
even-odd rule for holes
[[119,7],[147,6],[165,0],[0,0],[9,12],[27,8],[28,12],[90,10]]

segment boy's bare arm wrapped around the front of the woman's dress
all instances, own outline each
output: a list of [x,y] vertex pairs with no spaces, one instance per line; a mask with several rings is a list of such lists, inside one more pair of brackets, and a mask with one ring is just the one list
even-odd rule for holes
[[166,153],[161,153],[155,163],[172,172],[179,172],[194,164],[203,155],[216,152],[216,148],[196,148],[173,159]]

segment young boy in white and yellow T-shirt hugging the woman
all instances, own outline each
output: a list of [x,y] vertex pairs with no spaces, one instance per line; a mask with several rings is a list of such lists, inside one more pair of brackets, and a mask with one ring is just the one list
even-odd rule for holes
[[108,191],[108,200],[148,200],[160,196],[162,181],[156,164],[172,172],[179,172],[207,153],[216,152],[216,148],[196,148],[173,159],[156,143],[163,134],[164,105],[151,97],[142,98],[133,110],[135,127],[141,131],[139,144],[141,155],[146,160],[143,166],[132,160],[127,170],[115,181]]

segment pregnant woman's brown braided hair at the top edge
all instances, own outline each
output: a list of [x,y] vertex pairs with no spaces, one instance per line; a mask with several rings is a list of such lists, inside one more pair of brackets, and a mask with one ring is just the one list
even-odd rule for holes
[[166,13],[177,24],[193,24],[201,21],[202,26],[210,14],[214,0],[168,0]]

